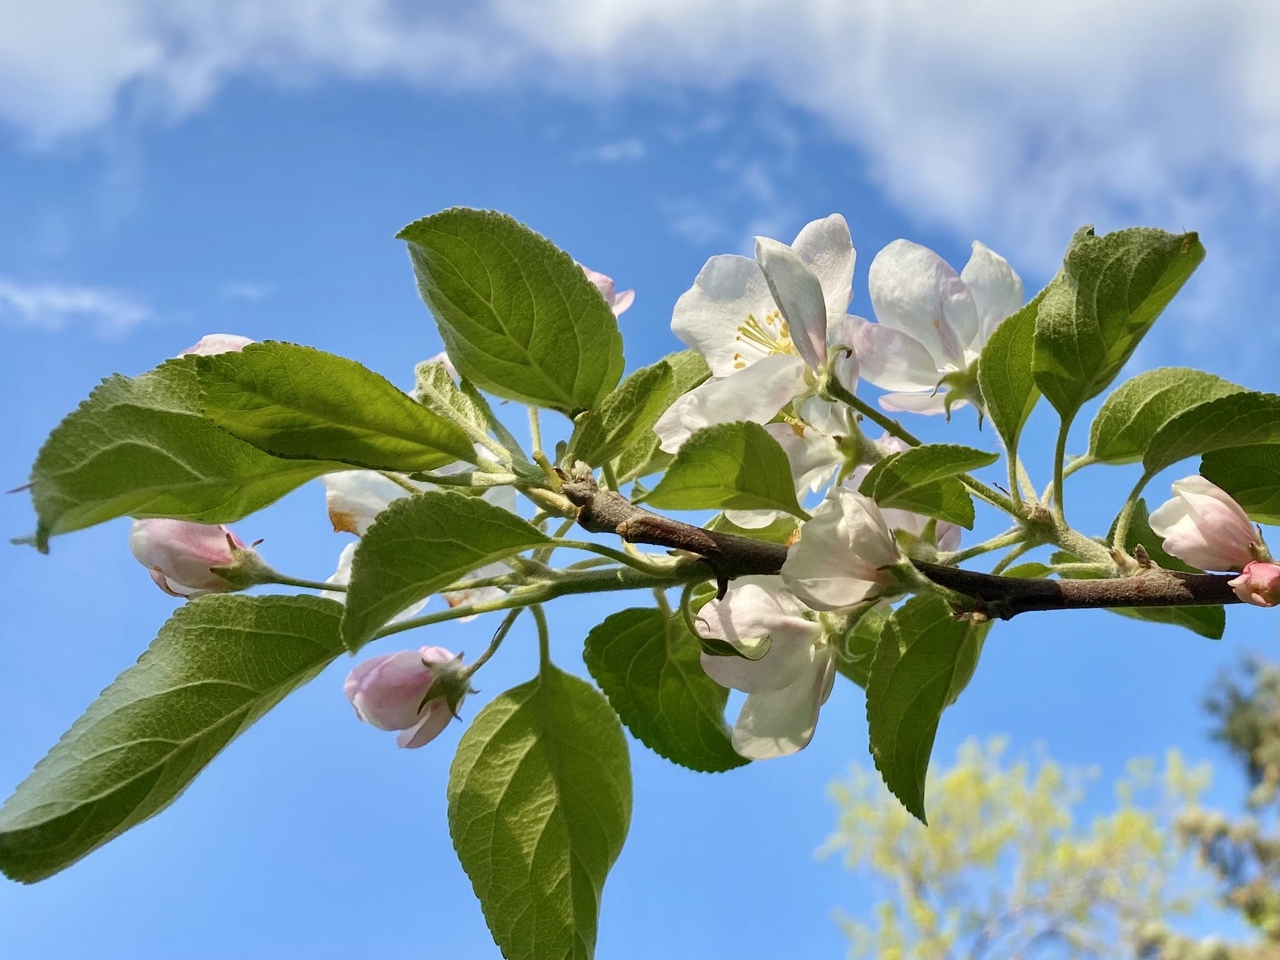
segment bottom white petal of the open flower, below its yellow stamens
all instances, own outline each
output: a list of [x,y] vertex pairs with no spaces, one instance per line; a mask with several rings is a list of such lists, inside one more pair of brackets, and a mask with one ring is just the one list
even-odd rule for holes
[[732,376],[694,388],[667,408],[653,431],[662,439],[662,449],[675,453],[704,426],[736,420],[767,424],[804,392],[804,374],[800,357],[790,353],[764,357]]

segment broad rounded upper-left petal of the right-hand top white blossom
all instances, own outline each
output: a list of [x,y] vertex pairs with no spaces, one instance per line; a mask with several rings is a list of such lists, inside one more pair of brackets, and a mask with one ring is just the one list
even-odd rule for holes
[[876,255],[867,284],[879,323],[923,343],[940,367],[968,365],[964,351],[980,329],[978,308],[942,257],[919,243],[893,241]]

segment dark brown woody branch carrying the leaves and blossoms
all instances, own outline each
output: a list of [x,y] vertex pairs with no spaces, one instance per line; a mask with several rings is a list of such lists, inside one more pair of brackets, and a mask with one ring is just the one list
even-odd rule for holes
[[[746,536],[705,530],[637,507],[590,477],[567,481],[564,495],[579,508],[577,522],[594,534],[616,534],[627,543],[685,550],[707,561],[721,589],[733,577],[782,572],[787,548]],[[977,573],[941,563],[913,561],[925,577],[974,600],[968,612],[1009,620],[1033,611],[1100,607],[1203,607],[1239,603],[1230,575],[1179,573],[1148,567],[1110,580],[1027,580]]]

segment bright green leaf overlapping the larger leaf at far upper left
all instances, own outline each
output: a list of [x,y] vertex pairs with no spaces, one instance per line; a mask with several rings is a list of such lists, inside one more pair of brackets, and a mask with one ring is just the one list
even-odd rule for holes
[[475,460],[457,425],[355,360],[269,342],[197,364],[205,416],[276,457],[406,472]]

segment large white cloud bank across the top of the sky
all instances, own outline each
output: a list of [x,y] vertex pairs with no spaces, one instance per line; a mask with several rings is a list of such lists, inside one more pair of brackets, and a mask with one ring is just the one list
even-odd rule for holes
[[1276,49],[1274,0],[0,0],[0,116],[50,141],[186,115],[244,74],[584,100],[762,84],[920,220],[1057,252],[1098,214],[1217,215],[1240,180],[1271,205]]

